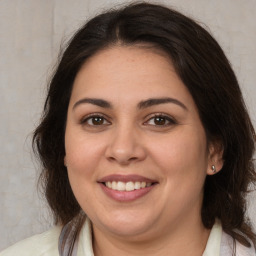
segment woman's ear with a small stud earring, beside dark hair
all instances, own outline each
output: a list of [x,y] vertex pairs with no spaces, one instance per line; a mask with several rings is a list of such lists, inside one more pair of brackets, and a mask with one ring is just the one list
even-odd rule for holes
[[209,145],[207,174],[214,175],[223,167],[224,147],[221,141],[213,141]]

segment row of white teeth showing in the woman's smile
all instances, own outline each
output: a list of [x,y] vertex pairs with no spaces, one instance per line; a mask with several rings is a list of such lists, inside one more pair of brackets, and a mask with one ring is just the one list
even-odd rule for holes
[[136,181],[136,182],[122,182],[122,181],[107,181],[105,182],[106,187],[111,188],[113,190],[118,190],[118,191],[133,191],[136,189],[141,189],[145,187],[150,187],[152,183],[150,182],[145,182],[145,181]]

